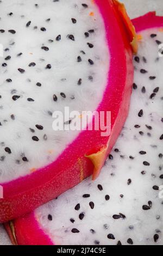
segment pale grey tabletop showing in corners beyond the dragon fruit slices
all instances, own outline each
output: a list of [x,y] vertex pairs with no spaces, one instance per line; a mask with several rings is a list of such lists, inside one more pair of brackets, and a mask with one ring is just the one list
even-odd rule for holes
[[[143,15],[148,11],[156,10],[158,15],[163,15],[162,0],[121,0],[126,4],[131,19]],[[10,245],[9,237],[2,225],[0,225],[0,245]]]

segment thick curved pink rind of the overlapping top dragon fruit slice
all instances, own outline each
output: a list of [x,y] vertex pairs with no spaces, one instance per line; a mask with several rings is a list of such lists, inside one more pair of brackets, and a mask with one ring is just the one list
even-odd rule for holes
[[[97,110],[111,111],[111,135],[101,137],[101,131],[83,131],[52,164],[30,175],[1,184],[4,199],[0,199],[0,223],[33,211],[90,176],[94,166],[85,155],[97,153],[109,142],[101,162],[102,167],[127,118],[134,74],[131,40],[129,41],[127,29],[118,15],[114,0],[94,2],[105,22],[111,58],[108,84]],[[20,244],[22,243],[20,240]]]

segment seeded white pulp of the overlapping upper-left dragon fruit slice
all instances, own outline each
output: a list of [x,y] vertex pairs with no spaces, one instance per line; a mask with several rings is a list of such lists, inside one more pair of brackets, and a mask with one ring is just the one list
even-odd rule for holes
[[79,131],[53,131],[52,113],[64,114],[65,106],[70,112],[97,108],[109,50],[91,0],[3,0],[0,17],[0,182],[5,182],[53,162],[76,138]]

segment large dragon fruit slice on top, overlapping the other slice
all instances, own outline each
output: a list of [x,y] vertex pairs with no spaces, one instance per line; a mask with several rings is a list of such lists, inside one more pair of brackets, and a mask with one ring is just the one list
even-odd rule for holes
[[[124,6],[115,0],[5,0],[0,13],[5,222],[98,176],[128,114],[131,48],[137,46]],[[111,111],[111,135],[53,131],[52,113],[65,106]]]

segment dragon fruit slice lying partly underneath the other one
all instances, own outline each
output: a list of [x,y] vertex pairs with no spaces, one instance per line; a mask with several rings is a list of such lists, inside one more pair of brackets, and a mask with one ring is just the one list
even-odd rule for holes
[[129,116],[101,175],[10,223],[18,244],[162,245],[163,18],[133,23],[140,48]]

